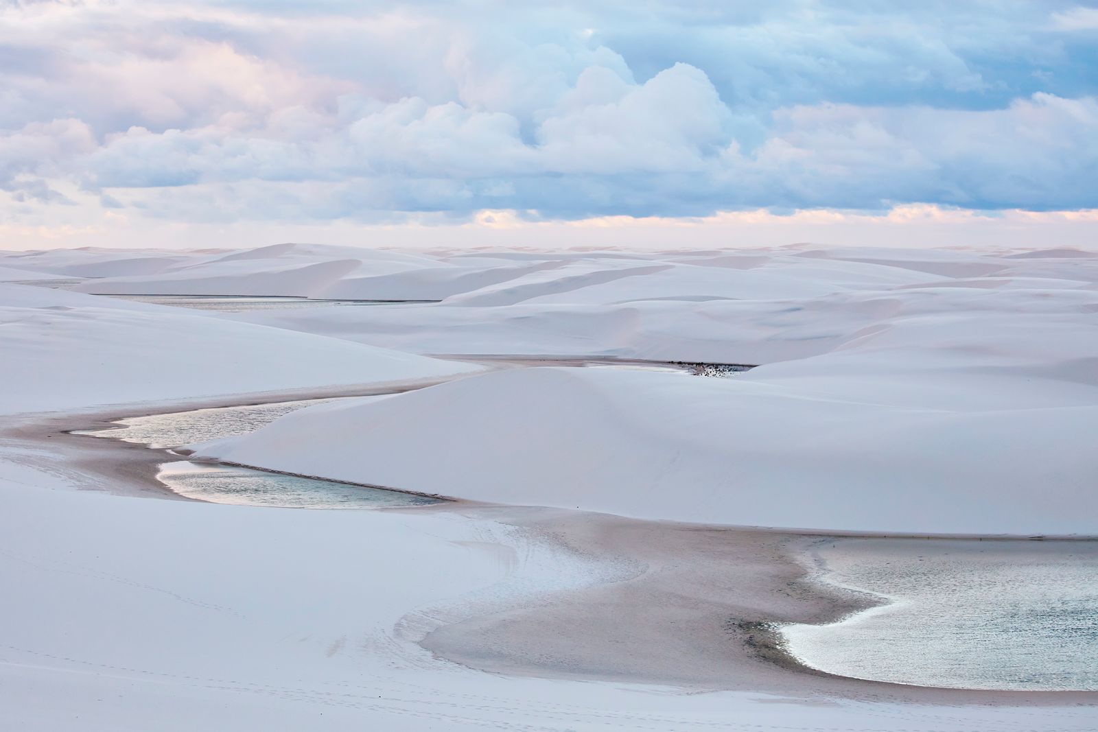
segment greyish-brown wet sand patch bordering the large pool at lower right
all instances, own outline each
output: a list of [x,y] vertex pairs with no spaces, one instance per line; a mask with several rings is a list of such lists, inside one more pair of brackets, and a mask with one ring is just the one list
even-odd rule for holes
[[806,558],[824,537],[818,532],[557,509],[459,505],[445,510],[522,527],[617,573],[523,601],[473,604],[466,608],[468,617],[459,609],[421,643],[462,665],[504,675],[750,690],[805,700],[1098,705],[1098,692],[1091,691],[920,687],[806,666],[788,652],[781,626],[833,622],[875,604],[814,575]]

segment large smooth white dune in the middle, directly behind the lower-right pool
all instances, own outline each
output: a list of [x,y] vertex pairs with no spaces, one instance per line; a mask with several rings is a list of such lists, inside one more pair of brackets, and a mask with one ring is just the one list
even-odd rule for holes
[[[649,519],[1095,532],[1098,457],[1082,449],[1098,424],[1095,386],[1086,405],[945,409],[888,404],[881,397],[896,382],[866,383],[858,395],[842,382],[840,398],[834,384],[813,388],[810,378],[517,370],[373,404],[314,407],[200,452],[475,500]],[[1053,383],[1049,391],[1051,401],[1071,402],[1083,390]]]

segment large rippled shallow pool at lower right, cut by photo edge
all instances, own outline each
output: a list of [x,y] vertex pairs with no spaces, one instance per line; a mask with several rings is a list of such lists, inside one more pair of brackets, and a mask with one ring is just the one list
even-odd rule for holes
[[1098,543],[853,539],[819,577],[881,605],[783,629],[820,671],[970,689],[1098,690]]

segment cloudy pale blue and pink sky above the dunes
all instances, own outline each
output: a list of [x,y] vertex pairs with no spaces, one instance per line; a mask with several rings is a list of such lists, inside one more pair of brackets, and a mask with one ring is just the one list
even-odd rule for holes
[[1098,246],[1098,2],[0,0],[0,248]]

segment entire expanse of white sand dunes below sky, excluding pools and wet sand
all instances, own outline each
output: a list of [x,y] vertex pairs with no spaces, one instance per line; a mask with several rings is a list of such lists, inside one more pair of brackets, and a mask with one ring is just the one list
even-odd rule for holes
[[[484,515],[90,492],[94,481],[66,462],[59,440],[31,443],[9,429],[61,419],[46,412],[141,414],[150,402],[469,369],[415,353],[761,363],[726,380],[490,372],[311,407],[203,449],[293,472],[653,519],[1098,533],[1098,271],[1084,255],[1017,254],[0,254],[0,267],[101,278],[115,292],[445,300],[213,314],[0,285],[0,728],[1093,730],[1093,701],[1078,697],[916,701],[855,682],[771,694],[740,667],[749,690],[704,694],[477,672],[419,641],[502,599],[536,613],[544,598],[616,582],[631,560]],[[669,571],[690,561],[670,558]],[[592,610],[619,622],[615,611]],[[662,647],[646,654],[659,661]]]

